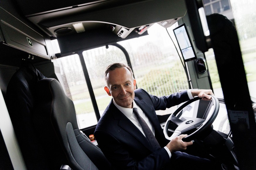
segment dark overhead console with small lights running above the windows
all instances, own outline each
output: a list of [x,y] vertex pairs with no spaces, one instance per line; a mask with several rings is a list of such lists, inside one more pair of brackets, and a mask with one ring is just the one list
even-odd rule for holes
[[[156,22],[163,22],[160,25],[169,27],[187,11],[184,0],[91,0],[83,1],[84,4],[79,4],[78,1],[64,3],[57,0],[53,6],[50,6],[49,2],[47,8],[43,5],[45,1],[16,1],[28,20],[41,27],[50,37],[57,38],[74,33],[73,24],[77,22],[82,23],[85,32],[95,29],[92,27],[95,23],[98,24],[96,27],[101,27],[105,23],[113,24],[113,32],[125,38],[134,30],[138,34],[143,34]],[[79,5],[71,6],[73,4]],[[39,6],[44,8],[41,9]],[[54,19],[56,17],[58,20]],[[64,34],[58,34],[59,29]]]

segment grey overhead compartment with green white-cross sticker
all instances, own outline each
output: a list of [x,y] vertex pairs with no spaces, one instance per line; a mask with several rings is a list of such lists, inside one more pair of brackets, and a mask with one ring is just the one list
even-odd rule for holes
[[[26,51],[31,55],[50,59],[43,35],[21,22],[4,8],[0,7],[1,42],[11,47]],[[50,43],[50,39],[49,42]]]

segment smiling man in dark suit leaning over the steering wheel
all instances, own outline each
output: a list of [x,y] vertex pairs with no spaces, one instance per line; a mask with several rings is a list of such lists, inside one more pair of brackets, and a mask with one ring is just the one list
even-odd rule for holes
[[[107,67],[105,80],[105,91],[113,99],[100,118],[94,135],[115,169],[180,169],[181,166],[188,169],[199,166],[209,169],[206,167],[210,164],[208,159],[175,152],[185,150],[193,143],[182,141],[187,135],[168,141],[155,110],[165,110],[194,96],[209,100],[210,94],[213,94],[211,90],[188,90],[169,96],[152,96],[143,89],[136,89],[133,72],[130,67],[121,63],[113,63]],[[155,148],[150,143],[133,108],[145,120],[160,147]]]

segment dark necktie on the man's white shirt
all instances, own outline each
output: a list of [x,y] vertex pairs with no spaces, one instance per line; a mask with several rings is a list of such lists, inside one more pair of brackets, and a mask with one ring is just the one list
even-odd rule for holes
[[150,130],[150,128],[148,127],[148,124],[145,122],[145,120],[140,117],[139,113],[137,112],[137,110],[135,108],[133,108],[133,113],[135,114],[135,116],[137,117],[145,135],[147,136],[151,146],[155,149],[155,150],[159,150],[161,149],[159,143],[157,142],[153,132]]

